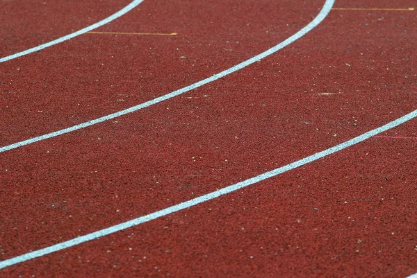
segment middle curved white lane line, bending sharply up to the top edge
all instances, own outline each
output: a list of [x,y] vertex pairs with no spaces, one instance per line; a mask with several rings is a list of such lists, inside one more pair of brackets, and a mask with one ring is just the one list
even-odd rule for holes
[[87,121],[85,123],[80,123],[78,125],[73,125],[70,128],[64,128],[63,130],[58,130],[58,131],[55,131],[55,132],[47,133],[47,134],[44,134],[44,135],[41,135],[41,136],[38,136],[38,137],[32,137],[31,139],[27,139],[27,140],[24,140],[24,141],[19,141],[15,144],[10,144],[8,146],[3,146],[3,147],[0,148],[0,153],[5,152],[6,150],[12,150],[14,148],[19,148],[21,146],[26,146],[28,144],[33,144],[37,141],[42,141],[42,140],[45,140],[45,139],[49,139],[51,137],[56,137],[56,136],[59,136],[59,135],[62,135],[62,134],[68,133],[68,132],[72,132],[74,130],[79,130],[81,128],[87,128],[90,125],[95,125],[97,123],[102,123],[104,121],[114,119],[118,116],[122,116],[124,114],[129,114],[129,113],[141,110],[145,107],[149,107],[149,106],[154,105],[156,103],[161,103],[162,101],[166,101],[167,99],[173,98],[174,96],[179,96],[180,94],[184,94],[185,92],[188,92],[192,89],[201,87],[202,85],[213,82],[215,80],[218,80],[219,78],[222,78],[224,76],[229,75],[230,73],[234,73],[235,71],[243,69],[244,67],[247,67],[250,64],[253,64],[254,62],[257,62],[257,61],[259,61],[259,60],[261,60],[261,59],[279,51],[279,49],[284,48],[288,44],[291,44],[292,42],[295,42],[296,40],[300,39],[300,37],[304,36],[306,33],[309,33],[309,31],[311,31],[313,28],[318,26],[318,24],[320,24],[320,22],[323,19],[325,19],[325,17],[327,16],[329,11],[331,10],[333,4],[334,4],[334,0],[326,0],[324,6],[322,7],[322,10],[320,10],[317,17],[315,19],[313,19],[313,21],[311,21],[309,24],[307,24],[304,28],[302,28],[300,31],[298,31],[297,33],[295,33],[291,37],[288,37],[288,39],[284,40],[283,42],[280,42],[276,46],[273,46],[272,48],[268,49],[267,51],[264,51],[263,53],[261,53],[259,55],[256,55],[256,56],[250,58],[249,60],[241,62],[240,64],[237,64],[236,66],[231,67],[230,69],[226,69],[226,70],[224,70],[220,73],[217,73],[217,74],[215,74],[215,75],[213,75],[209,78],[200,80],[199,82],[195,82],[192,85],[189,85],[187,87],[183,87],[182,89],[178,89],[177,91],[171,92],[169,94],[165,94],[164,96],[154,98],[152,101],[147,101],[145,103],[141,103],[139,105],[129,107],[125,110],[121,110],[121,111],[115,112],[113,114],[102,116],[98,119]]

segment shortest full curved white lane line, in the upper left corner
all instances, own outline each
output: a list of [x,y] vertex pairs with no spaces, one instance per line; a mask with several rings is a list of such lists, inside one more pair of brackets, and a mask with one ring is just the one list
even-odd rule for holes
[[122,8],[122,10],[119,10],[118,12],[116,12],[115,14],[111,15],[110,17],[107,17],[95,24],[92,24],[88,27],[85,27],[79,31],[76,31],[74,33],[71,33],[70,35],[66,35],[64,37],[60,37],[56,40],[53,40],[51,42],[47,42],[46,44],[41,44],[39,46],[35,46],[31,49],[27,49],[25,51],[19,52],[19,53],[15,53],[3,58],[0,58],[0,62],[6,62],[8,60],[12,60],[15,58],[18,58],[20,56],[23,55],[28,55],[30,53],[33,53],[35,51],[40,51],[42,49],[46,49],[49,46],[53,46],[55,44],[59,44],[61,42],[65,42],[66,40],[71,40],[73,37],[82,35],[83,33],[87,33],[88,31],[92,31],[95,28],[99,28],[100,26],[103,26],[104,24],[108,24],[108,22],[113,21],[115,19],[117,19],[117,17],[121,17],[122,15],[124,15],[126,12],[129,12],[130,10],[132,10],[133,8],[135,8],[136,6],[138,6],[140,3],[142,3],[143,0],[133,0],[129,5],[127,5],[126,7]]

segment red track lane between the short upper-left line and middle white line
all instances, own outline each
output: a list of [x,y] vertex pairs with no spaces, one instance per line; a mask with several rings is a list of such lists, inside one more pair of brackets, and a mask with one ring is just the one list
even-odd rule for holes
[[[58,49],[58,53],[54,51],[51,55],[44,52],[47,60],[31,60],[26,63],[28,68],[19,66],[19,71],[10,67],[6,71],[6,80],[10,80],[10,85],[6,82],[3,89],[10,94],[3,94],[2,101],[6,103],[6,108],[0,115],[3,118],[0,128],[5,131],[0,139],[2,145],[67,128],[68,123],[83,123],[124,110],[213,76],[293,35],[311,21],[306,14],[316,13],[318,8],[315,4],[305,7],[303,12],[304,7],[301,6],[291,10],[288,4],[274,6],[263,1],[259,3],[259,8],[270,9],[271,14],[257,24],[252,19],[247,26],[246,20],[239,23],[234,17],[247,15],[257,18],[261,14],[259,8],[248,12],[251,7],[238,8],[234,1],[226,4],[230,12],[218,19],[214,11],[220,8],[219,3],[213,3],[210,12],[204,12],[201,4],[186,1],[179,4],[171,2],[167,7],[166,3],[159,3],[159,6],[145,3],[142,10],[119,20],[122,26],[137,21],[138,17],[145,17],[152,10],[163,13],[168,9],[174,10],[171,17],[181,20],[170,24],[167,20],[170,17],[161,15],[163,19],[160,22],[155,18],[146,19],[136,22],[136,26],[139,28],[143,22],[150,21],[149,25],[160,26],[161,30],[170,24],[181,28],[176,28],[181,35],[163,38],[162,41],[155,37],[118,39],[112,36],[112,43],[109,44],[108,37],[87,34],[76,42],[66,44],[65,51]],[[190,8],[190,12],[181,17],[181,10],[176,10],[178,5]],[[271,23],[275,22],[274,12],[286,10],[291,12],[277,20],[277,26],[281,26],[282,31],[276,31],[278,27]],[[204,30],[205,21],[196,21],[196,17],[212,24]],[[292,17],[300,17],[300,21]],[[182,20],[194,21],[184,26]],[[288,27],[288,21],[295,21],[296,24]],[[115,21],[113,24],[118,23]],[[120,30],[118,26],[113,27]],[[130,28],[128,31],[133,30]],[[248,36],[247,33],[255,35]],[[122,78],[119,72],[122,72]],[[31,101],[27,100],[28,95]],[[31,121],[27,121],[28,118]]]

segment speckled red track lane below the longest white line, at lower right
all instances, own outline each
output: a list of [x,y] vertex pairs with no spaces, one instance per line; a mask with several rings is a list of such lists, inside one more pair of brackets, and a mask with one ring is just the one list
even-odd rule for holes
[[[413,130],[409,122],[391,132]],[[67,268],[74,277],[103,270],[110,276],[405,277],[416,256],[410,148],[407,141],[370,139],[258,186],[6,270],[47,275]],[[385,163],[389,157],[405,163]]]

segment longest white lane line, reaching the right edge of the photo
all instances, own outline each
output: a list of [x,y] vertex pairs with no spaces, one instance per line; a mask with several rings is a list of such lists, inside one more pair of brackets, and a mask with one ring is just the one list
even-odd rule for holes
[[413,112],[402,116],[399,119],[396,119],[395,121],[391,121],[390,123],[387,123],[386,125],[382,125],[379,128],[375,128],[375,130],[370,130],[366,133],[363,133],[359,135],[358,137],[355,137],[354,139],[350,139],[349,141],[345,141],[342,144],[338,144],[337,146],[334,146],[332,148],[328,148],[327,150],[322,150],[320,153],[316,153],[314,155],[310,155],[309,157],[305,157],[303,159],[297,160],[296,162],[287,164],[286,166],[282,166],[279,168],[276,168],[272,171],[265,172],[261,175],[257,175],[256,177],[251,177],[248,180],[244,180],[243,182],[238,182],[237,184],[232,184],[230,186],[224,187],[223,189],[220,189],[218,191],[213,191],[211,193],[208,193],[206,195],[197,197],[195,199],[188,200],[186,202],[181,202],[178,205],[174,205],[172,207],[167,207],[166,209],[161,209],[160,211],[155,211],[152,214],[148,214],[146,216],[141,216],[139,218],[135,218],[133,220],[126,221],[124,223],[120,223],[118,225],[114,225],[111,227],[108,227],[106,229],[101,229],[97,232],[92,232],[91,234],[85,234],[84,236],[79,236],[77,238],[71,239],[70,241],[64,241],[63,243],[58,243],[56,245],[51,245],[49,247],[42,248],[40,250],[36,250],[33,252],[28,252],[26,254],[22,254],[20,256],[7,259],[5,261],[0,261],[0,269],[6,268],[8,266],[13,266],[16,263],[22,263],[24,261],[28,261],[30,259],[35,259],[37,257],[44,256],[46,254],[51,254],[53,252],[57,252],[59,250],[66,249],[68,247],[72,247],[74,245],[79,245],[80,243],[85,243],[87,241],[92,241],[93,239],[100,238],[101,236],[107,236],[108,234],[113,234],[115,232],[122,231],[123,229],[128,229],[130,227],[148,222],[150,220],[154,220],[157,218],[160,218],[162,216],[166,216],[168,214],[172,214],[176,211],[180,211],[182,209],[187,209],[189,207],[193,207],[195,205],[198,205],[202,202],[206,202],[208,200],[213,200],[215,198],[218,198],[222,195],[225,195],[227,193],[231,193],[233,191],[236,191],[238,189],[243,189],[246,186],[249,186],[251,184],[255,184],[257,182],[261,182],[263,180],[269,179],[270,177],[275,177],[276,175],[279,175],[281,173],[285,173],[286,171],[290,171],[294,168],[303,166],[305,164],[309,164],[310,162],[316,161],[322,157],[326,157],[327,155],[332,155],[333,153],[336,153],[340,150],[343,150],[345,148],[348,148],[350,146],[353,146],[355,144],[360,143],[361,141],[364,141],[366,139],[369,139],[370,137],[375,136],[376,134],[379,134],[381,132],[384,132],[386,130],[389,130],[391,128],[395,128],[398,125],[401,125],[402,123],[405,123],[406,121],[409,121],[411,119],[416,118],[417,116],[417,110],[414,110]]

